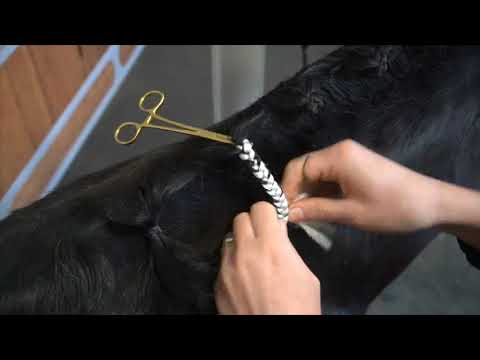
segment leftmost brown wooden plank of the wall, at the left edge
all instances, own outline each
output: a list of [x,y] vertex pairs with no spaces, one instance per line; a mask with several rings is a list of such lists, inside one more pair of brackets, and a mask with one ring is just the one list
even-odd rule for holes
[[35,147],[26,131],[5,67],[0,68],[0,197],[10,188]]

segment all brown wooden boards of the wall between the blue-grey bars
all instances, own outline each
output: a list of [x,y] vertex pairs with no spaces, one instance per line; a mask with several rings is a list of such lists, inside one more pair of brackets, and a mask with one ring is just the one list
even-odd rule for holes
[[[109,45],[21,45],[0,67],[0,197],[27,165]],[[120,47],[125,64],[135,46]],[[13,208],[38,199],[114,81],[113,64],[72,115],[18,192]]]

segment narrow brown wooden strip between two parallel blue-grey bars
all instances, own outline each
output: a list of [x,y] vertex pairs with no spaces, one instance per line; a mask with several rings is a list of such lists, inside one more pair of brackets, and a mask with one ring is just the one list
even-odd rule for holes
[[52,178],[60,162],[77,139],[87,120],[112,86],[114,79],[113,65],[108,64],[97,79],[93,88],[79,105],[77,111],[49,148],[47,154],[37,165],[30,179],[15,198],[13,208],[24,207],[37,200]]

